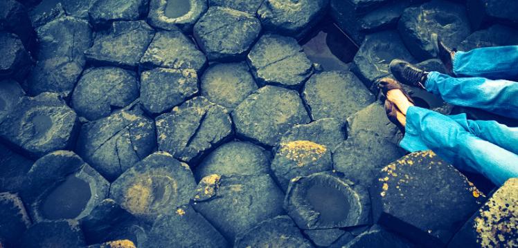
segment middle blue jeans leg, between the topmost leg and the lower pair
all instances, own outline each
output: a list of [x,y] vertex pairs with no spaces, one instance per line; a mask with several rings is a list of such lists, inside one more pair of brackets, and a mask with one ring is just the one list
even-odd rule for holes
[[517,82],[483,77],[458,78],[431,72],[425,88],[440,95],[450,104],[481,108],[497,115],[518,119]]

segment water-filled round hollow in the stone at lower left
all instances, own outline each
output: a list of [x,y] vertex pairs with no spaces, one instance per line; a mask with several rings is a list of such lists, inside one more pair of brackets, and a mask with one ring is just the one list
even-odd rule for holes
[[42,216],[48,220],[76,218],[87,207],[90,198],[90,185],[69,175],[43,200]]

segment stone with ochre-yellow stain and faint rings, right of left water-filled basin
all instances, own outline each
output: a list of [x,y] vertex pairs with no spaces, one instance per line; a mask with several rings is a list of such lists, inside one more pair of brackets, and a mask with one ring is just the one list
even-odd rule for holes
[[196,182],[187,164],[156,152],[135,164],[111,184],[110,198],[145,222],[187,204]]

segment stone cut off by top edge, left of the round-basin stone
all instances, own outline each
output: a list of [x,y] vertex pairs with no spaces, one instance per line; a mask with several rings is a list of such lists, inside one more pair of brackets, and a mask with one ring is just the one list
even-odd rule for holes
[[97,0],[88,15],[93,26],[108,26],[111,21],[136,21],[148,12],[149,0]]

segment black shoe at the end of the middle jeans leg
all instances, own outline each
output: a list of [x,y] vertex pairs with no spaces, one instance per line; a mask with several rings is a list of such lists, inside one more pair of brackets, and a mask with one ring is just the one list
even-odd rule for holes
[[391,73],[402,84],[425,89],[428,73],[407,61],[401,59],[391,61]]

